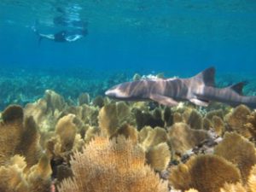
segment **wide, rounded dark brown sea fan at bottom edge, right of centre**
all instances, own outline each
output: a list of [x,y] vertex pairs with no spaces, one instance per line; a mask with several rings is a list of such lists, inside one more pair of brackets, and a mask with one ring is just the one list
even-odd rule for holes
[[169,181],[175,189],[218,192],[224,183],[241,181],[241,175],[229,161],[208,154],[196,156],[186,164],[172,168]]

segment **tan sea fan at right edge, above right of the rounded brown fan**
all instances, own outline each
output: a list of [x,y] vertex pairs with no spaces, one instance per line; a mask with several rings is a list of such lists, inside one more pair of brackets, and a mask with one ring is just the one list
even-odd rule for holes
[[252,166],[256,164],[253,143],[235,132],[226,132],[224,140],[214,148],[214,153],[234,163],[240,169],[242,180],[246,183]]

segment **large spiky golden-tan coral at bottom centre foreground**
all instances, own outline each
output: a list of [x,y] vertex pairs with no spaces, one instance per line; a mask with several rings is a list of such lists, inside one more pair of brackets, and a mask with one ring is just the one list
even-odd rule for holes
[[125,137],[96,137],[71,160],[73,178],[64,179],[60,192],[167,192],[138,145]]

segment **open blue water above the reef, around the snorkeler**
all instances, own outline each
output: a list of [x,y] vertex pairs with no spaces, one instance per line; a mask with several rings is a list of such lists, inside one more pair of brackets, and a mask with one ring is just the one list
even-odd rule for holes
[[[63,12],[68,20],[87,22],[88,35],[73,43],[43,39],[38,44],[32,26],[43,33],[76,29],[55,25]],[[256,1],[0,2],[0,67],[5,73],[29,69],[76,76],[90,71],[91,79],[103,73],[189,76],[210,66],[219,74],[255,77]]]

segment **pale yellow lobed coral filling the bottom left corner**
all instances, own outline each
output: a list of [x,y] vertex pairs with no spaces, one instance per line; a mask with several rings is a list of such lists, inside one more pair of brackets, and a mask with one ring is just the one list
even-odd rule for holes
[[9,160],[9,165],[0,166],[0,191],[50,192],[51,168],[48,158],[43,156],[27,172],[24,171],[25,167],[25,159],[18,155]]

